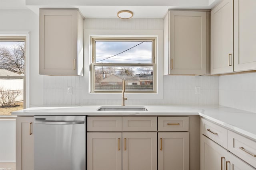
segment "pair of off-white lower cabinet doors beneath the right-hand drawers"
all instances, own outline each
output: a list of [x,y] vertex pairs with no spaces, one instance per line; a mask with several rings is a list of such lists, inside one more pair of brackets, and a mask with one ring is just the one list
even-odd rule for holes
[[200,170],[255,170],[204,135],[201,135],[200,155]]

